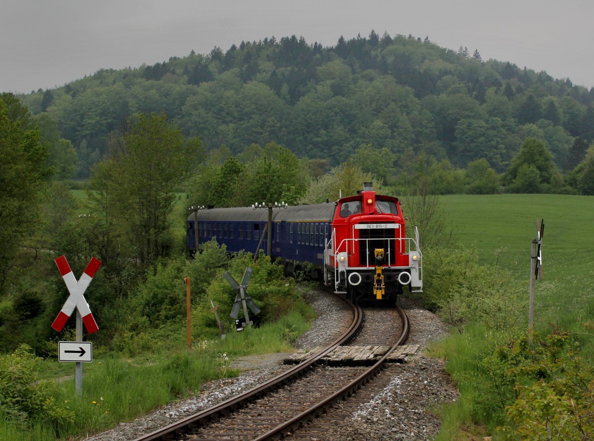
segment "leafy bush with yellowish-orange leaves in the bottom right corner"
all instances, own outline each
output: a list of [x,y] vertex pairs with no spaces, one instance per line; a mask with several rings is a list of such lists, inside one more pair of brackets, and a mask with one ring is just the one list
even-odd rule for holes
[[553,329],[502,345],[495,353],[516,383],[517,398],[507,408],[515,425],[503,431],[510,439],[584,440],[594,436],[594,369],[580,357],[567,332]]

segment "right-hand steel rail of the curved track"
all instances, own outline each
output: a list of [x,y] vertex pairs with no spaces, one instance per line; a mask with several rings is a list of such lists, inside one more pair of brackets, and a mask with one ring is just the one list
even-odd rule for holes
[[350,395],[356,389],[359,389],[363,383],[367,380],[371,379],[373,375],[376,375],[380,369],[384,367],[384,363],[388,356],[400,345],[402,345],[406,339],[408,338],[409,334],[409,322],[408,317],[404,310],[399,306],[397,307],[398,314],[400,315],[400,319],[402,319],[402,334],[400,338],[394,344],[388,352],[380,358],[373,366],[369,367],[364,373],[353,379],[349,384],[344,386],[340,391],[334,392],[334,394],[328,396],[327,398],[323,399],[323,401],[318,402],[317,404],[313,405],[312,407],[308,408],[307,410],[303,411],[301,414],[297,415],[296,417],[287,420],[285,423],[280,424],[274,429],[269,430],[266,433],[261,434],[254,441],[262,441],[267,439],[280,439],[285,437],[289,432],[292,432],[299,427],[304,426],[307,421],[314,419],[318,414],[322,413],[324,408],[330,406],[336,401],[340,401],[340,399],[344,399],[346,396]]

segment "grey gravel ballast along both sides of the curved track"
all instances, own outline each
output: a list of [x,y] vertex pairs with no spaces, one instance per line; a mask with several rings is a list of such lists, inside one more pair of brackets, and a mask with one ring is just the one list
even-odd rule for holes
[[[336,323],[344,323],[349,316],[341,302],[328,294],[309,293],[312,306],[320,315],[312,328],[298,341],[298,347],[317,347],[330,344],[343,330]],[[391,364],[384,370],[383,389],[370,394],[369,401],[349,410],[324,440],[430,440],[437,434],[440,421],[431,409],[443,402],[457,399],[457,391],[444,372],[442,360],[424,356],[429,340],[439,338],[445,326],[437,316],[412,305],[403,304],[410,321],[408,344],[420,345],[419,351],[405,364]],[[201,394],[167,405],[151,414],[115,429],[83,439],[92,441],[133,440],[141,434],[153,432],[217,402],[228,399],[289,369],[282,363],[287,354],[244,357],[233,360],[231,366],[244,370],[233,379],[207,383]]]

